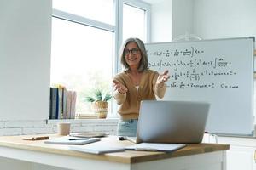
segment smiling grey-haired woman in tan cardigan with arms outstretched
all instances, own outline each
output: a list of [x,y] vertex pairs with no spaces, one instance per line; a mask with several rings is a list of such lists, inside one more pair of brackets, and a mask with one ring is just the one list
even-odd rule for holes
[[168,71],[159,74],[148,69],[148,55],[143,41],[129,38],[120,50],[124,71],[113,78],[113,98],[119,105],[119,136],[136,136],[141,100],[163,98]]

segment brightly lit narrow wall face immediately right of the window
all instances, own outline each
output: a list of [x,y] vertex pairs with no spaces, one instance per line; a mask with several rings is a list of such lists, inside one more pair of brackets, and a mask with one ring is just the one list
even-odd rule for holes
[[172,1],[152,4],[151,42],[172,41]]

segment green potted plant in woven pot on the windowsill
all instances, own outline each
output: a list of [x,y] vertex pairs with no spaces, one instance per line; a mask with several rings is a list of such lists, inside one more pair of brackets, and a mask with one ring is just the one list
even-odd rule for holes
[[107,117],[110,99],[112,99],[112,95],[106,93],[103,97],[103,92],[100,89],[96,89],[90,96],[85,97],[85,101],[92,103],[94,112],[101,119]]

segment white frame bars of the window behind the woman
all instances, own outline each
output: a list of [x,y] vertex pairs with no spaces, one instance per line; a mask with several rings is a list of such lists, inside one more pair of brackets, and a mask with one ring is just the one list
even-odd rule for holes
[[[130,5],[134,8],[140,8],[145,10],[145,23],[146,23],[146,42],[150,42],[150,27],[151,27],[151,5],[149,3],[144,3],[137,0],[113,0],[113,25],[104,23],[98,20],[92,20],[83,16],[79,16],[76,14],[70,14],[65,11],[61,11],[58,9],[52,9],[52,17],[67,20],[74,23],[79,23],[84,26],[91,26],[97,29],[102,29],[105,31],[113,32],[113,75],[117,74],[122,70],[122,67],[119,62],[119,48],[123,42],[123,4]],[[112,103],[112,111],[110,117],[116,117],[117,114],[113,113],[117,111],[117,105],[113,105]]]

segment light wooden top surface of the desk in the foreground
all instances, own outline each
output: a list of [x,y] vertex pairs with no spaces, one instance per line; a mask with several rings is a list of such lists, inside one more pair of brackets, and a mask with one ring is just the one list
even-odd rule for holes
[[[27,135],[26,135],[27,136]],[[56,138],[56,135],[49,135],[49,138]],[[228,144],[187,144],[181,150],[172,153],[156,152],[156,151],[134,151],[125,150],[124,152],[108,153],[104,155],[87,154],[79,151],[68,150],[65,144],[44,144],[44,140],[22,140],[24,136],[2,136],[0,137],[0,147],[10,147],[21,150],[40,151],[49,154],[61,154],[66,156],[77,156],[85,159],[95,159],[102,161],[116,161],[121,163],[137,163],[143,161],[160,160],[178,156],[190,156],[202,154],[218,150],[229,150]],[[125,147],[131,145],[128,140],[119,141],[117,136],[109,136],[102,138],[101,141],[94,144],[112,144],[115,146]],[[63,151],[65,150],[65,151]]]

